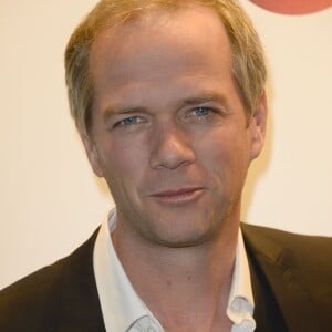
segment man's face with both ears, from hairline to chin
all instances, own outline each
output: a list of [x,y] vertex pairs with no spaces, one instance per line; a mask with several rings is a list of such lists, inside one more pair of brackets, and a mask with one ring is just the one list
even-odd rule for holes
[[264,103],[247,125],[218,17],[193,6],[108,29],[92,46],[91,70],[83,142],[111,188],[116,232],[180,247],[215,238],[226,222],[238,227]]

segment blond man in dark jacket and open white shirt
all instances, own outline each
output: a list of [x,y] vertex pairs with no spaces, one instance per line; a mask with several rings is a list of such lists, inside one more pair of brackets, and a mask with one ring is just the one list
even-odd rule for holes
[[104,0],[65,60],[116,209],[73,255],[1,292],[0,330],[328,331],[331,239],[240,230],[267,102],[238,4]]

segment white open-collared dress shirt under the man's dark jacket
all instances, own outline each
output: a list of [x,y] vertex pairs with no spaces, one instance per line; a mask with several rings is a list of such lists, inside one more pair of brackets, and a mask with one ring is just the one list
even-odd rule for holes
[[[112,210],[97,235],[93,268],[107,332],[164,332],[158,320],[134,290],[113,247],[111,234],[116,227],[116,212]],[[231,332],[251,332],[253,297],[247,253],[239,232],[236,262],[228,299],[227,315]]]

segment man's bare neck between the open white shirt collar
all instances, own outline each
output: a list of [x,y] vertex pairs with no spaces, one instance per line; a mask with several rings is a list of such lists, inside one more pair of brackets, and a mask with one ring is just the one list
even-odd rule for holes
[[227,231],[214,240],[185,248],[137,242],[121,228],[113,234],[115,250],[134,289],[166,331],[229,328],[226,308],[238,222],[227,224]]

